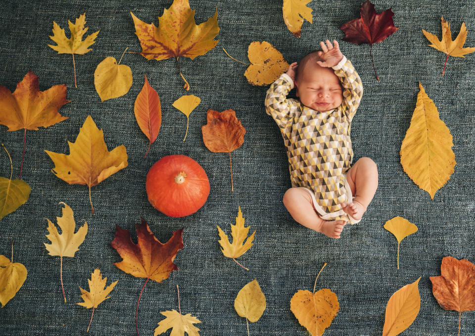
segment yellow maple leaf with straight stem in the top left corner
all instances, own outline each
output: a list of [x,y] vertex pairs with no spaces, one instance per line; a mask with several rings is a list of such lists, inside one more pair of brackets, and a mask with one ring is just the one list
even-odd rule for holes
[[76,64],[74,63],[74,54],[84,55],[85,53],[91,51],[89,48],[95,43],[95,38],[99,31],[92,33],[83,40],[84,34],[88,31],[89,27],[84,28],[86,24],[86,13],[83,13],[73,24],[68,20],[69,31],[71,32],[71,37],[68,39],[64,33],[64,29],[59,27],[59,25],[53,21],[53,36],[49,38],[53,40],[57,45],[48,45],[48,47],[56,50],[58,53],[70,53],[73,56],[73,67],[74,67],[74,86],[77,88],[76,84]]

